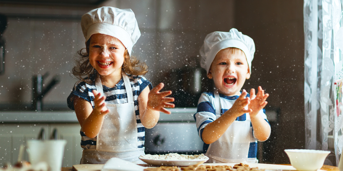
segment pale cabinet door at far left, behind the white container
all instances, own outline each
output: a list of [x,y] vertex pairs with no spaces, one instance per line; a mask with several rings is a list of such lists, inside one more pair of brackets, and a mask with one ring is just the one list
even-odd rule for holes
[[[45,130],[45,137],[49,137],[48,124],[2,123],[0,125],[0,167],[3,167],[5,162],[14,164],[18,159],[20,145],[26,145],[27,140],[37,139],[42,128]],[[28,161],[26,150],[24,160]]]

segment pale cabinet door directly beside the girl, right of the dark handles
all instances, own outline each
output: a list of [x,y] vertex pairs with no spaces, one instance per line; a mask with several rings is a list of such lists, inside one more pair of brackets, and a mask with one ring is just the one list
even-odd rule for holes
[[80,145],[81,126],[79,123],[60,123],[50,124],[49,132],[52,133],[54,129],[57,129],[58,138],[67,140],[67,145],[64,148],[62,167],[72,167],[73,165],[79,165],[82,157],[82,148]]

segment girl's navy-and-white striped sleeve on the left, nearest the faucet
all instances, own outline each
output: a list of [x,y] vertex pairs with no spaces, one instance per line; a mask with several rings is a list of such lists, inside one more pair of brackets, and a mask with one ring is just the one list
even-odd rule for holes
[[[74,108],[74,95],[83,98],[84,100],[91,103],[92,99],[89,93],[96,89],[95,86],[87,84],[86,82],[79,80],[75,83],[73,90],[67,98],[67,105],[70,109],[75,110]],[[93,94],[93,93],[92,93]]]

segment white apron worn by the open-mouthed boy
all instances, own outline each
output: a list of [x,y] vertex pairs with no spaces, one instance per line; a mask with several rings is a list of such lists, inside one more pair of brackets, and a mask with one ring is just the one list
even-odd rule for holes
[[[221,115],[221,103],[218,91],[214,92],[215,115]],[[251,133],[250,117],[245,121],[234,121],[224,134],[214,143],[209,145],[206,156],[207,163],[234,163],[248,160],[251,140],[255,140]],[[255,141],[254,141],[255,142]]]

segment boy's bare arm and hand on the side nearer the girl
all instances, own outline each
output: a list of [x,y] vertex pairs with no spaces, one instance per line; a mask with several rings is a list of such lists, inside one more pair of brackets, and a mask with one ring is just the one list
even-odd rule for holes
[[249,97],[245,98],[247,94],[247,91],[243,90],[242,94],[237,98],[236,102],[230,109],[228,109],[221,117],[206,125],[202,132],[202,141],[204,143],[211,144],[217,141],[238,116],[251,111],[251,109],[244,108],[250,103]]

